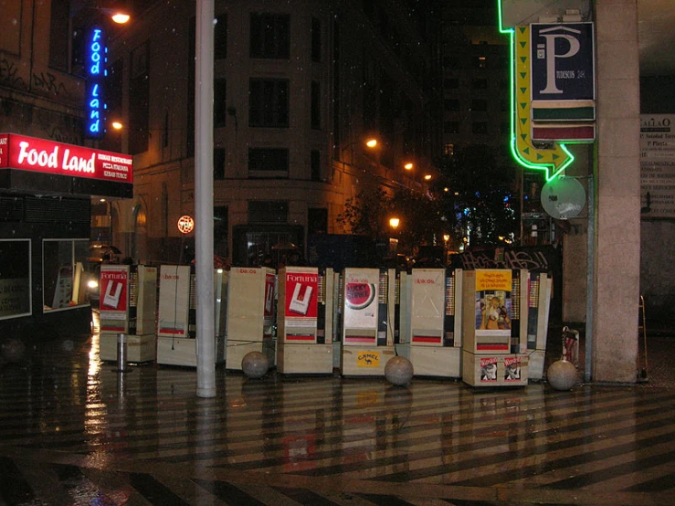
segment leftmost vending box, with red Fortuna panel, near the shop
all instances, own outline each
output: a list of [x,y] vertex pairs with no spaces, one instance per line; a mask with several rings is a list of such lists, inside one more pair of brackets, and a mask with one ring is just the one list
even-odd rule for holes
[[157,268],[144,265],[100,267],[100,360],[117,360],[118,334],[127,337],[127,360],[155,359]]

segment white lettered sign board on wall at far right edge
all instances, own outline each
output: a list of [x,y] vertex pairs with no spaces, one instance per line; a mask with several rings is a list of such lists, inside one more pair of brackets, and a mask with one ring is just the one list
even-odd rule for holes
[[640,116],[640,216],[675,218],[675,114]]

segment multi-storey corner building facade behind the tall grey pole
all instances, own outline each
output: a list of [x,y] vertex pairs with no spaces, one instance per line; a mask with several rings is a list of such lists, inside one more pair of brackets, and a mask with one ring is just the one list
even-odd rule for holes
[[[216,255],[257,265],[275,246],[304,252],[311,235],[344,232],[336,218],[365,187],[424,191],[434,107],[429,13],[415,4],[216,2]],[[138,261],[194,254],[177,222],[195,213],[196,54],[194,2],[153,3],[111,44],[121,100],[109,115],[125,129],[103,145],[135,167],[112,230]]]

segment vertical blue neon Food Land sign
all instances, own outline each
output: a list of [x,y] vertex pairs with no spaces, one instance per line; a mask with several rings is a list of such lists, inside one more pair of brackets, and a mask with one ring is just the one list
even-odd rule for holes
[[90,139],[99,139],[105,133],[104,83],[108,75],[108,47],[105,46],[103,30],[93,27],[87,39],[87,90],[85,96],[85,132]]

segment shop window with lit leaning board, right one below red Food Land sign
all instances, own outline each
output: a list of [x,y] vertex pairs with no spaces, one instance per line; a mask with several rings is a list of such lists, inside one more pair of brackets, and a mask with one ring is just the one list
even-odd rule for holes
[[44,311],[89,303],[88,239],[45,239],[42,242]]

